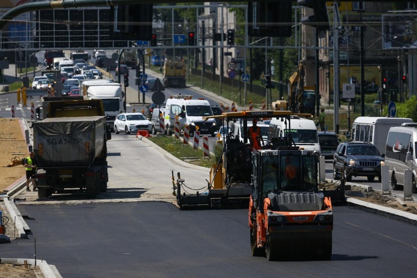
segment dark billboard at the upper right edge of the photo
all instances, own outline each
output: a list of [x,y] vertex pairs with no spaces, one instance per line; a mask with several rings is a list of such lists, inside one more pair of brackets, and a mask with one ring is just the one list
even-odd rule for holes
[[408,49],[417,47],[417,14],[382,15],[382,47]]

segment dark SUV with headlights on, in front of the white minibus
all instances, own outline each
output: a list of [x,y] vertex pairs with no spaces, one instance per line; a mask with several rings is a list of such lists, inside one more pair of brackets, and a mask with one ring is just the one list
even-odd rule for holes
[[339,173],[343,173],[347,182],[352,176],[367,177],[370,182],[378,177],[381,182],[381,165],[384,164],[384,155],[371,143],[342,142],[333,158],[333,179],[338,180]]

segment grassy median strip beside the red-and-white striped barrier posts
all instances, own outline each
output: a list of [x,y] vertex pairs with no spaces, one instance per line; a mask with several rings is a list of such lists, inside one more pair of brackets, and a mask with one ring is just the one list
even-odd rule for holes
[[[169,152],[176,158],[188,162],[190,164],[199,165],[202,167],[211,168],[212,164],[216,164],[220,157],[218,150],[214,151],[214,156],[210,158],[204,158],[202,149],[194,149],[190,145],[184,145],[182,139],[175,139],[171,136],[157,135],[149,138],[152,142],[160,146],[165,151]],[[217,155],[216,155],[217,153]],[[217,160],[216,160],[217,159]]]

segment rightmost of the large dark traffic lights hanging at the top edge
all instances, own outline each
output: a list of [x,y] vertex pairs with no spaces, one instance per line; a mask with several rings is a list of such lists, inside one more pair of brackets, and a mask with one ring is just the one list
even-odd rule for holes
[[297,0],[297,5],[312,8],[312,16],[301,18],[301,23],[316,27],[319,38],[325,37],[325,31],[330,29],[326,0]]

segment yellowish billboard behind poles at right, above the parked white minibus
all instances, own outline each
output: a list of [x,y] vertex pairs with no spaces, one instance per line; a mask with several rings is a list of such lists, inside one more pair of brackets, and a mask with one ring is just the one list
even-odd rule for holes
[[[381,66],[365,66],[365,93],[377,93],[381,88]],[[361,90],[361,67],[349,65],[349,72],[347,72],[347,66],[339,67],[339,91],[342,92],[343,84],[350,83],[352,77],[356,78],[355,89]],[[333,91],[333,66],[330,66],[330,91]]]

